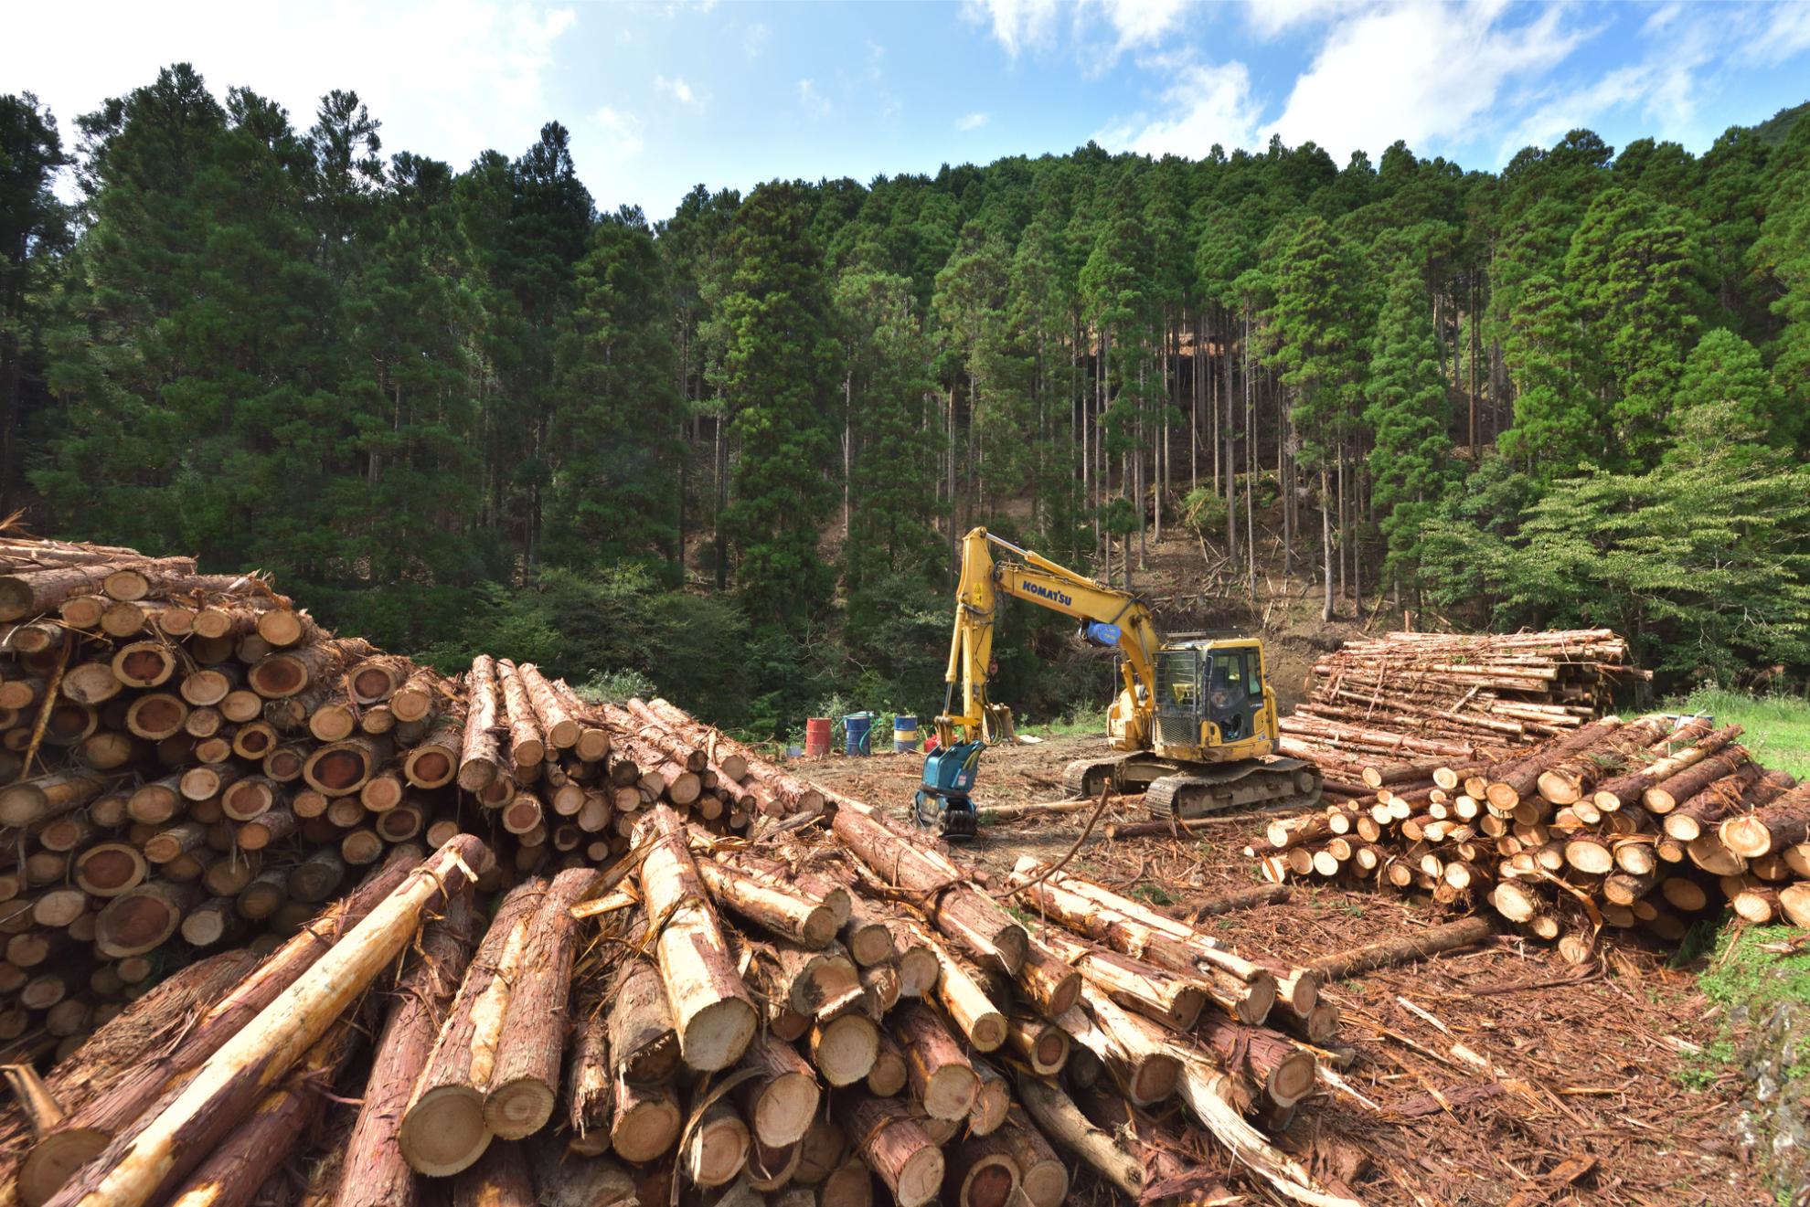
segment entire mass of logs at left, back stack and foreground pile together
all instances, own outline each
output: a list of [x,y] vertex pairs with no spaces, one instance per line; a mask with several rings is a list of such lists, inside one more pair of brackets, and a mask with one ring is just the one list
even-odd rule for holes
[[0,557],[0,1203],[1350,1202],[1271,1142],[1338,1050],[1312,970],[992,892],[661,700]]

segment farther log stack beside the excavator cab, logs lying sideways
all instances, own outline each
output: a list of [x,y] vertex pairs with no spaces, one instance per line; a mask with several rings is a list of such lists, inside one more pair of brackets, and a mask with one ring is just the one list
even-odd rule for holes
[[1283,753],[1332,775],[1341,755],[1412,751],[1401,746],[1410,735],[1417,753],[1488,758],[1584,726],[1616,680],[1640,675],[1605,628],[1386,633],[1314,664],[1307,702],[1281,722]]

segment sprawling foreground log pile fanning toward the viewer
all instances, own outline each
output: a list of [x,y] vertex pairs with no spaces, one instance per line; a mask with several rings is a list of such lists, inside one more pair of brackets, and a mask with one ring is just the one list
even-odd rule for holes
[[360,1207],[1057,1207],[1082,1165],[1171,1203],[1236,1202],[1236,1167],[1354,1205],[1269,1138],[1336,1044],[1314,972],[1035,860],[1003,894],[1024,925],[869,807],[824,823],[655,803],[624,858],[491,916],[476,836],[396,849],[262,963],[192,965],[49,1079],[9,1069],[0,1178],[27,1207],[290,1176]]

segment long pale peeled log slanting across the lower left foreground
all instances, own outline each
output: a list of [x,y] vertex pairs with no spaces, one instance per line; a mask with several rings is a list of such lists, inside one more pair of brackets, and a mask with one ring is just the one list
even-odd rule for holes
[[422,912],[487,865],[483,843],[462,834],[407,872],[340,943],[203,1060],[172,1102],[118,1136],[51,1202],[138,1207],[167,1194],[396,957]]

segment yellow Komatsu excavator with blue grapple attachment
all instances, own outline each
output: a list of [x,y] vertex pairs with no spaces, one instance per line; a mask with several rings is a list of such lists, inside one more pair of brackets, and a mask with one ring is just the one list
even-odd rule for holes
[[[996,561],[994,550],[1005,559]],[[1064,773],[1077,796],[1144,793],[1158,816],[1319,800],[1319,769],[1276,755],[1276,697],[1254,637],[1166,641],[1149,604],[1019,548],[986,528],[961,543],[956,628],[948,644],[938,749],[925,758],[916,818],[948,838],[974,834],[968,798],[979,755],[1012,737],[1012,709],[986,699],[999,597],[1010,595],[1081,623],[1084,641],[1117,648],[1124,686],[1106,713],[1115,755],[1079,758]]]

